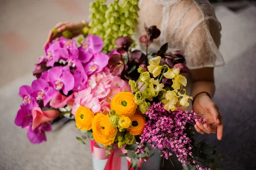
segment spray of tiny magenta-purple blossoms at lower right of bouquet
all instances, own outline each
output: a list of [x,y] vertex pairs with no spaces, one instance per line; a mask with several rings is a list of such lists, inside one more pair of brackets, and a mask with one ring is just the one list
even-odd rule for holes
[[163,151],[161,156],[166,159],[172,156],[172,150],[185,166],[196,163],[191,152],[191,140],[186,133],[191,124],[201,121],[195,112],[183,112],[180,109],[174,112],[166,111],[164,105],[159,102],[152,104],[145,114],[150,120],[146,122],[140,137],[141,144],[148,142],[151,147],[160,148]]

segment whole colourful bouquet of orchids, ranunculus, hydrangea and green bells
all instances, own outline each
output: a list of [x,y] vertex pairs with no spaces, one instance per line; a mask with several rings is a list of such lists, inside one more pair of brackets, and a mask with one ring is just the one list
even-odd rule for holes
[[[91,27],[84,28],[84,38],[61,36],[45,48],[33,72],[37,79],[20,87],[23,101],[15,124],[26,128],[30,142],[40,144],[47,141],[52,121],[70,115],[82,132],[76,137],[79,143],[90,139],[94,158],[107,160],[105,170],[121,169],[121,157],[127,159],[126,169],[137,170],[157,148],[165,159],[175,154],[184,169],[218,168],[212,157],[220,154],[192,138],[195,121],[206,120],[201,120],[202,113],[186,110],[192,97],[184,89],[182,73],[189,70],[182,52],[167,52],[167,43],[151,55],[134,50],[129,36],[138,0],[120,5],[115,0],[108,7],[103,3],[91,4]],[[118,27],[111,29],[114,36],[101,31],[126,13],[133,19],[125,26],[113,24]],[[99,22],[105,27],[99,28]],[[140,41],[148,47],[160,30],[145,25],[145,32]]]

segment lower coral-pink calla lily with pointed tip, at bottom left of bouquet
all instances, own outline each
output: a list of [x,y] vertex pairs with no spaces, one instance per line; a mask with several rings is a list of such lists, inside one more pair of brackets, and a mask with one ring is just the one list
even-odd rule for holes
[[40,107],[34,107],[32,110],[32,130],[35,130],[40,124],[45,123],[47,121],[51,121],[54,118],[58,117],[61,114],[59,110],[51,109],[42,111]]

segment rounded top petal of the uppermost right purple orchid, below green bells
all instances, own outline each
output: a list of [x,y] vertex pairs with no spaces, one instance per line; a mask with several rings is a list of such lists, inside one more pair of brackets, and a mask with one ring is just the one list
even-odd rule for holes
[[103,48],[103,40],[96,35],[88,35],[88,43],[90,44],[90,49],[92,49],[93,54],[101,52]]

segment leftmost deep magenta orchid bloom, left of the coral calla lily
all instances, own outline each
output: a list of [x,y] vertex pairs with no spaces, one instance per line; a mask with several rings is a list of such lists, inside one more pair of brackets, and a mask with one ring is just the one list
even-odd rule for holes
[[24,128],[32,122],[32,112],[27,105],[20,105],[20,109],[17,112],[14,123],[16,126],[21,126]]

